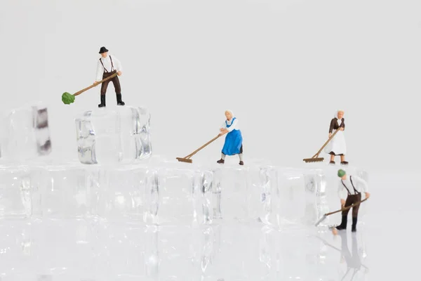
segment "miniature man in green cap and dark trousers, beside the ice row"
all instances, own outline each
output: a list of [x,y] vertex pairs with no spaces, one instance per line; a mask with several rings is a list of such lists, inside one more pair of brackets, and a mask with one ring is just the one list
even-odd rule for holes
[[[366,181],[358,176],[347,175],[347,173],[339,169],[338,176],[340,177],[338,186],[338,195],[340,197],[340,205],[342,209],[344,207],[351,206],[352,204],[361,201],[361,192],[364,192],[366,198],[370,197],[370,193],[367,192],[368,185]],[[352,207],[352,232],[356,232],[356,221],[358,218],[360,204]],[[337,230],[347,229],[349,209],[342,211],[342,222],[339,226],[336,226]]]

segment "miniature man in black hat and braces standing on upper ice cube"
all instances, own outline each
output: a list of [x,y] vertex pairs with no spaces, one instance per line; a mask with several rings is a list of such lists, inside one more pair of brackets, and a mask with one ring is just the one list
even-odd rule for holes
[[100,48],[100,54],[101,58],[97,65],[97,77],[93,84],[98,84],[98,81],[110,77],[116,72],[118,76],[102,82],[101,103],[98,105],[98,107],[105,107],[105,93],[107,92],[107,87],[110,81],[112,81],[112,84],[114,84],[114,90],[116,91],[117,97],[117,105],[124,105],[123,100],[121,100],[121,86],[119,81],[119,76],[121,75],[121,63],[114,55],[108,55],[108,50],[105,47]]

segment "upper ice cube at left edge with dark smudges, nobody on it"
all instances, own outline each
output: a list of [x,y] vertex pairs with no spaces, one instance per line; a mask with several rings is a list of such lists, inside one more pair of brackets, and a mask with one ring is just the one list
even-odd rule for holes
[[1,120],[0,156],[8,160],[32,159],[51,152],[48,110],[44,105],[20,107]]

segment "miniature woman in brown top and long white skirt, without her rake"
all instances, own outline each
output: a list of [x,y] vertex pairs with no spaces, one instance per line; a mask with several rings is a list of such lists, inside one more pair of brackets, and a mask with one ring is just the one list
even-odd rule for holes
[[347,143],[345,143],[345,112],[338,110],[335,112],[334,118],[330,121],[329,126],[329,138],[335,131],[339,130],[338,133],[330,140],[324,151],[330,154],[329,164],[335,164],[335,156],[340,156],[340,164],[347,165],[345,161],[345,154],[347,153]]

